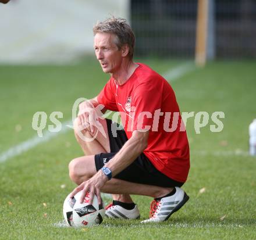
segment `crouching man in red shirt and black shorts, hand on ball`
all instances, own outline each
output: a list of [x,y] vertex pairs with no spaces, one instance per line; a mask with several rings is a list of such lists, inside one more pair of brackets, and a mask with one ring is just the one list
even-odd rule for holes
[[[110,79],[94,99],[80,103],[74,134],[85,156],[69,164],[78,185],[70,197],[90,191],[101,203],[100,192],[112,194],[106,216],[133,219],[140,211],[130,195],[151,196],[150,218],[142,222],[165,221],[189,200],[181,188],[189,143],[175,93],[150,67],[133,62],[134,34],[125,19],[112,17],[93,31],[95,55]],[[123,130],[112,131],[114,123],[98,117],[99,106],[119,112]]]

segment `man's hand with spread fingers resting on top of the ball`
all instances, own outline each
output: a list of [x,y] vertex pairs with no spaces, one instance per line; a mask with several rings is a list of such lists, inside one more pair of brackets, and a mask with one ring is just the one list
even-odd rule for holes
[[106,181],[108,181],[108,177],[99,170],[98,173],[89,180],[82,182],[78,187],[76,187],[69,196],[70,198],[73,198],[77,192],[82,191],[80,203],[83,203],[86,193],[90,192],[89,205],[93,203],[94,194],[97,196],[98,203],[101,204],[101,188],[105,185]]

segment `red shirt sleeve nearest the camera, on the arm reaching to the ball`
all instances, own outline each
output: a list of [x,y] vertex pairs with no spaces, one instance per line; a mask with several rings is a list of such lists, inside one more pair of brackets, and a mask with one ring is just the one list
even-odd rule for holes
[[155,84],[140,84],[133,93],[134,107],[134,130],[152,129],[154,113],[161,110],[162,95],[161,89],[157,89]]

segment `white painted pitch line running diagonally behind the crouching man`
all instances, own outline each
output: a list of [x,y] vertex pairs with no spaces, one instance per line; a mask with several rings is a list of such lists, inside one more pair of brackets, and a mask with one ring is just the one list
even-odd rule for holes
[[[170,69],[169,71],[167,71],[165,74],[163,74],[163,77],[165,77],[166,80],[175,81],[194,69],[195,66],[193,65],[193,63],[183,63],[182,65],[179,65],[174,69]],[[27,152],[31,148],[34,148],[35,146],[41,144],[42,142],[48,142],[49,140],[58,136],[59,134],[65,133],[66,131],[71,129],[66,125],[73,125],[72,120],[63,123],[62,130],[59,132],[45,131],[43,133],[42,138],[38,137],[38,135],[35,135],[33,138],[30,138],[27,141],[21,142],[16,146],[12,146],[12,148],[9,148],[7,151],[0,154],[0,163],[5,162],[6,160],[12,157],[18,156],[23,152]]]

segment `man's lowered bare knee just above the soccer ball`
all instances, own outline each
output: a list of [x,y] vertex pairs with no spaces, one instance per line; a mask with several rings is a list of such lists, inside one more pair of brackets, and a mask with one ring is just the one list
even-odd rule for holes
[[76,184],[81,184],[81,182],[85,181],[91,176],[89,176],[89,174],[86,172],[83,173],[83,171],[81,171],[81,164],[79,159],[73,159],[69,163],[69,177]]

